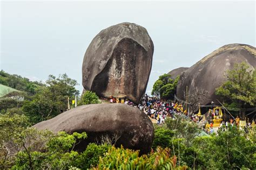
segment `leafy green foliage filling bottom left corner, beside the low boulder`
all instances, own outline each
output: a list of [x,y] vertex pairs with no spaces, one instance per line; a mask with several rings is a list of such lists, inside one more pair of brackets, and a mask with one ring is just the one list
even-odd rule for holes
[[[67,169],[77,162],[75,146],[85,132],[38,131],[24,115],[0,115],[0,169]],[[80,158],[79,158],[80,159]]]

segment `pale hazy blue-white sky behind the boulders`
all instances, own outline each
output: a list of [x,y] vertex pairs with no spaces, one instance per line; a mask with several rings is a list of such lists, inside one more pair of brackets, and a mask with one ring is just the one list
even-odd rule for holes
[[154,43],[147,92],[158,77],[231,43],[255,46],[255,1],[1,1],[0,69],[46,80],[67,73],[82,91],[84,53],[99,31],[144,26]]

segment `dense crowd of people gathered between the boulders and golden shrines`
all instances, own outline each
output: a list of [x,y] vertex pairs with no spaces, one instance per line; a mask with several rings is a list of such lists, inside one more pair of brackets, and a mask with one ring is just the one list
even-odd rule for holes
[[[127,105],[131,105],[133,107],[138,107],[139,110],[143,111],[145,114],[147,114],[151,119],[155,119],[157,121],[157,124],[164,124],[165,119],[167,117],[176,119],[178,115],[182,115],[184,117],[187,117],[187,119],[191,119],[191,121],[194,121],[195,123],[199,123],[201,120],[205,120],[205,117],[203,115],[198,114],[191,114],[188,116],[187,111],[185,110],[184,106],[182,104],[178,104],[177,101],[172,100],[160,100],[160,98],[157,97],[150,97],[149,95],[145,94],[145,96],[142,98],[140,103],[138,105],[134,104],[131,100],[126,98],[110,98],[110,103],[123,103]],[[229,121],[223,121],[220,119],[219,115],[222,115],[221,109],[220,110],[209,110],[210,113],[210,120],[205,120],[206,124],[204,126],[205,130],[208,133],[213,133],[213,119],[219,119],[221,120],[220,124],[218,124],[217,128],[219,130],[227,130],[227,127],[229,125],[239,126],[240,124],[240,118],[237,116],[235,119],[230,119]],[[254,121],[251,124],[250,121],[246,121],[246,125],[243,126],[245,130],[247,128],[251,128],[254,126]],[[216,127],[216,126],[215,126]]]

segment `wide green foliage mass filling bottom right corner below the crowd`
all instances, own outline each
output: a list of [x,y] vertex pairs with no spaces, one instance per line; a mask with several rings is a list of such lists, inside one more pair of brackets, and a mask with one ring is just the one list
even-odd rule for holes
[[[173,151],[172,155],[177,156],[178,165],[191,169],[256,168],[254,128],[249,130],[249,133],[245,133],[234,125],[229,126],[227,131],[219,131],[218,135],[199,137],[197,133],[199,129],[195,131],[194,127],[190,126],[191,130],[189,130],[179,122],[175,123],[169,120],[169,123],[158,128],[156,133],[159,133],[159,130],[165,133],[165,130],[169,130],[169,128],[172,128],[174,132],[173,137],[169,138],[171,144],[170,140],[162,140],[163,144],[158,145],[170,145],[168,147]],[[154,140],[161,142],[157,138]]]

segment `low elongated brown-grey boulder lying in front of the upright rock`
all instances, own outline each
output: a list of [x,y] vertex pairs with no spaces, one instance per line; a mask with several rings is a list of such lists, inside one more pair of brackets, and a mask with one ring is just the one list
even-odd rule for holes
[[154,128],[147,115],[138,108],[125,104],[90,104],[72,108],[33,127],[52,132],[86,132],[87,139],[76,146],[84,151],[90,142],[102,138],[118,139],[116,146],[139,149],[140,154],[150,152]]

